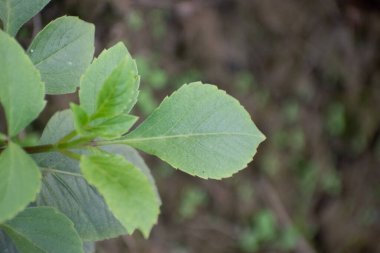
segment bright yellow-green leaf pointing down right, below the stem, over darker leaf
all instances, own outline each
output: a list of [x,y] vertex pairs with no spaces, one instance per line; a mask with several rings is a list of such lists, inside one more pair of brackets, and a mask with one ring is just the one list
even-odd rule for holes
[[144,173],[124,157],[108,153],[82,156],[80,167],[128,232],[140,229],[148,237],[157,222],[160,201]]

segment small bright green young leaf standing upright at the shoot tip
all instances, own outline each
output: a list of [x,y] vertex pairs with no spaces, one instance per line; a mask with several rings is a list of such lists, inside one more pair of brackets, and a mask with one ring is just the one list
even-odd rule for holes
[[137,101],[138,88],[136,64],[125,57],[100,88],[91,118],[111,118],[129,112]]

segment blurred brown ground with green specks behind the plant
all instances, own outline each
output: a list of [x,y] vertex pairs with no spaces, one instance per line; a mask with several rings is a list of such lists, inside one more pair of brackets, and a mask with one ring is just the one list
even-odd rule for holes
[[[158,225],[149,240],[136,233],[97,252],[380,252],[380,1],[53,0],[19,39],[65,14],[95,23],[97,54],[126,43],[141,118],[202,80],[237,97],[267,136],[223,181],[147,157]],[[49,97],[34,130],[75,99]]]

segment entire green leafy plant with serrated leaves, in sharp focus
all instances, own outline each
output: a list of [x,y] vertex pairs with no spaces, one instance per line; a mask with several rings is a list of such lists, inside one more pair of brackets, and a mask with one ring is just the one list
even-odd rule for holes
[[[12,37],[48,1],[0,0],[0,251],[91,252],[93,241],[157,222],[161,200],[137,151],[201,178],[246,167],[264,136],[237,100],[216,86],[183,85],[137,128],[137,67],[122,43],[93,59],[94,26],[64,16],[24,49]],[[19,133],[45,94],[79,87],[80,103],[57,112],[38,144]]]

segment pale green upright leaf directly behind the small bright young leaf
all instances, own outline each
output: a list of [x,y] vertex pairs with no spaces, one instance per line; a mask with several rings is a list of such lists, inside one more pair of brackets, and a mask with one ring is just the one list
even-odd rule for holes
[[[80,105],[84,108],[88,115],[95,113],[98,102],[103,102],[98,100],[100,90],[105,89],[102,92],[104,94],[109,92],[109,88],[102,88],[103,84],[110,78],[110,75],[115,71],[115,69],[118,66],[120,67],[120,63],[123,60],[125,61],[126,58],[128,59],[128,64],[125,67],[128,67],[127,72],[130,74],[128,77],[130,78],[130,81],[132,81],[134,78],[137,78],[137,67],[135,61],[128,53],[127,48],[121,42],[108,50],[104,50],[88,67],[81,79],[79,90]],[[129,103],[129,107],[133,106],[137,97],[139,79],[134,79],[134,81],[134,83],[128,83],[129,89],[131,89],[130,91],[132,93],[131,97],[128,98],[132,99]],[[109,85],[113,86],[115,84]],[[135,89],[134,92],[133,88]],[[130,110],[131,108],[129,107],[126,107],[126,109]]]

